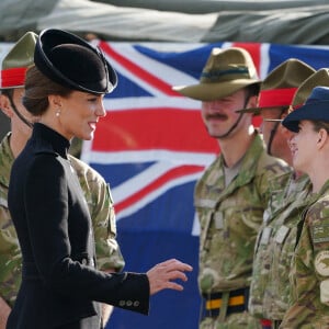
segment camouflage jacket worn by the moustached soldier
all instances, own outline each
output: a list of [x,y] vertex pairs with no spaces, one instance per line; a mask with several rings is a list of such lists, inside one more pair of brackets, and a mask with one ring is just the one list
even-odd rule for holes
[[239,173],[227,186],[222,156],[206,169],[194,193],[201,226],[201,293],[250,285],[256,237],[271,182],[276,185],[277,178],[290,170],[284,161],[266,154],[258,134],[241,160]]

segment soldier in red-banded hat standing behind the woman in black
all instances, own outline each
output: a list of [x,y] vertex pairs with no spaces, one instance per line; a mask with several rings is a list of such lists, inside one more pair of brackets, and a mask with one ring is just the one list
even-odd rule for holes
[[[8,188],[14,158],[31,136],[33,118],[21,103],[26,68],[33,64],[37,35],[26,33],[2,63],[0,106],[11,121],[11,132],[0,144],[0,329],[13,306],[21,283],[21,251],[8,211]],[[104,179],[92,168],[70,156],[84,192],[93,222],[98,266],[102,271],[121,271],[124,259],[116,242],[113,200]],[[104,305],[104,321],[112,306]]]

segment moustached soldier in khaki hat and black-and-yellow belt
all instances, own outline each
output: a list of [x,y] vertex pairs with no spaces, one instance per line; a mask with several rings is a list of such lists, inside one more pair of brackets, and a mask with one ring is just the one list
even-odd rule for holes
[[220,155],[197,181],[194,205],[200,236],[198,286],[203,297],[200,328],[260,328],[248,313],[256,237],[271,189],[279,189],[288,166],[266,154],[252,126],[260,81],[241,48],[213,49],[198,84],[177,87],[202,101],[208,134]]

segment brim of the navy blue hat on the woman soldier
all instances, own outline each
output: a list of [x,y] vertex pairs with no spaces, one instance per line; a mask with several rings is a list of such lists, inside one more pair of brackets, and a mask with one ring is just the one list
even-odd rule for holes
[[298,133],[299,122],[303,120],[329,122],[329,101],[305,104],[291,112],[282,122],[287,129]]

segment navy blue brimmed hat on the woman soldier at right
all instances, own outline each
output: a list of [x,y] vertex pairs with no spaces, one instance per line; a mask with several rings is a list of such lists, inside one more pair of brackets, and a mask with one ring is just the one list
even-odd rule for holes
[[313,89],[305,104],[291,112],[282,122],[290,131],[297,133],[302,120],[329,122],[329,88]]

